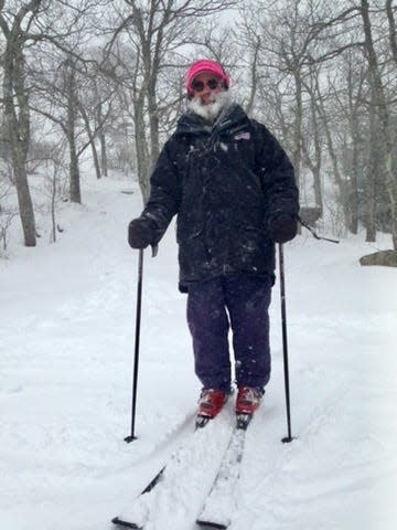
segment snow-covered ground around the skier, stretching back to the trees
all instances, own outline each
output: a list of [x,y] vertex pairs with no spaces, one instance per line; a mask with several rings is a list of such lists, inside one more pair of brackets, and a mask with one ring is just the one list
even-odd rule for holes
[[[195,528],[232,404],[217,425],[191,436],[200,384],[170,229],[158,257],[144,254],[138,439],[124,442],[138,265],[126,226],[140,209],[130,181],[86,179],[84,205],[58,215],[55,245],[13,246],[0,261],[1,529],[109,530],[183,441],[180,487],[170,495],[159,486],[146,528]],[[390,239],[380,235],[376,247],[390,247]],[[374,251],[363,234],[335,245],[304,233],[285,251],[297,439],[280,442],[277,284],[273,374],[247,432],[230,530],[394,530],[397,271],[360,266]]]

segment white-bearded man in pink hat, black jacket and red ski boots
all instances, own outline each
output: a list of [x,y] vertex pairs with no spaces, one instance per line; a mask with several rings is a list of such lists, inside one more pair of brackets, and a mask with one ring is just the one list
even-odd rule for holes
[[265,125],[230,98],[216,61],[186,72],[187,109],[164,145],[143,212],[129,224],[133,248],[157,245],[176,215],[180,290],[195,373],[203,389],[198,418],[212,418],[232,393],[251,415],[270,379],[269,316],[275,242],[297,234],[298,189],[286,152]]

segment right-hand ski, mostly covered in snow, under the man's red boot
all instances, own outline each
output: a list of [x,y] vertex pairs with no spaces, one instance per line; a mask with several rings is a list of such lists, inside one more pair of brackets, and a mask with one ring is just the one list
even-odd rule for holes
[[[229,504],[233,501],[240,474],[246,430],[253,414],[237,414],[236,427],[224,454],[218,473],[200,512],[196,524],[210,530],[226,530],[230,520]],[[225,502],[226,499],[226,502]]]

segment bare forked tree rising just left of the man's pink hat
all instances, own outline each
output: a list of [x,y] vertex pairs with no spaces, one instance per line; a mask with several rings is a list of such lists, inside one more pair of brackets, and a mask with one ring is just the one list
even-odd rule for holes
[[[126,10],[110,42],[128,38],[132,45],[130,93],[133,105],[138,180],[143,200],[149,194],[149,174],[160,151],[160,85],[178,51],[194,41],[203,17],[236,4],[235,0],[124,0]],[[180,63],[180,57],[178,60]]]

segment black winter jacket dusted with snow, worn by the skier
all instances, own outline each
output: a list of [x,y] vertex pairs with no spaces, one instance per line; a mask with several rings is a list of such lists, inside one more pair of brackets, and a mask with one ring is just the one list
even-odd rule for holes
[[155,243],[176,218],[180,287],[229,273],[272,275],[268,222],[299,211],[293,168],[268,129],[233,104],[214,127],[184,114],[151,176],[141,220]]

